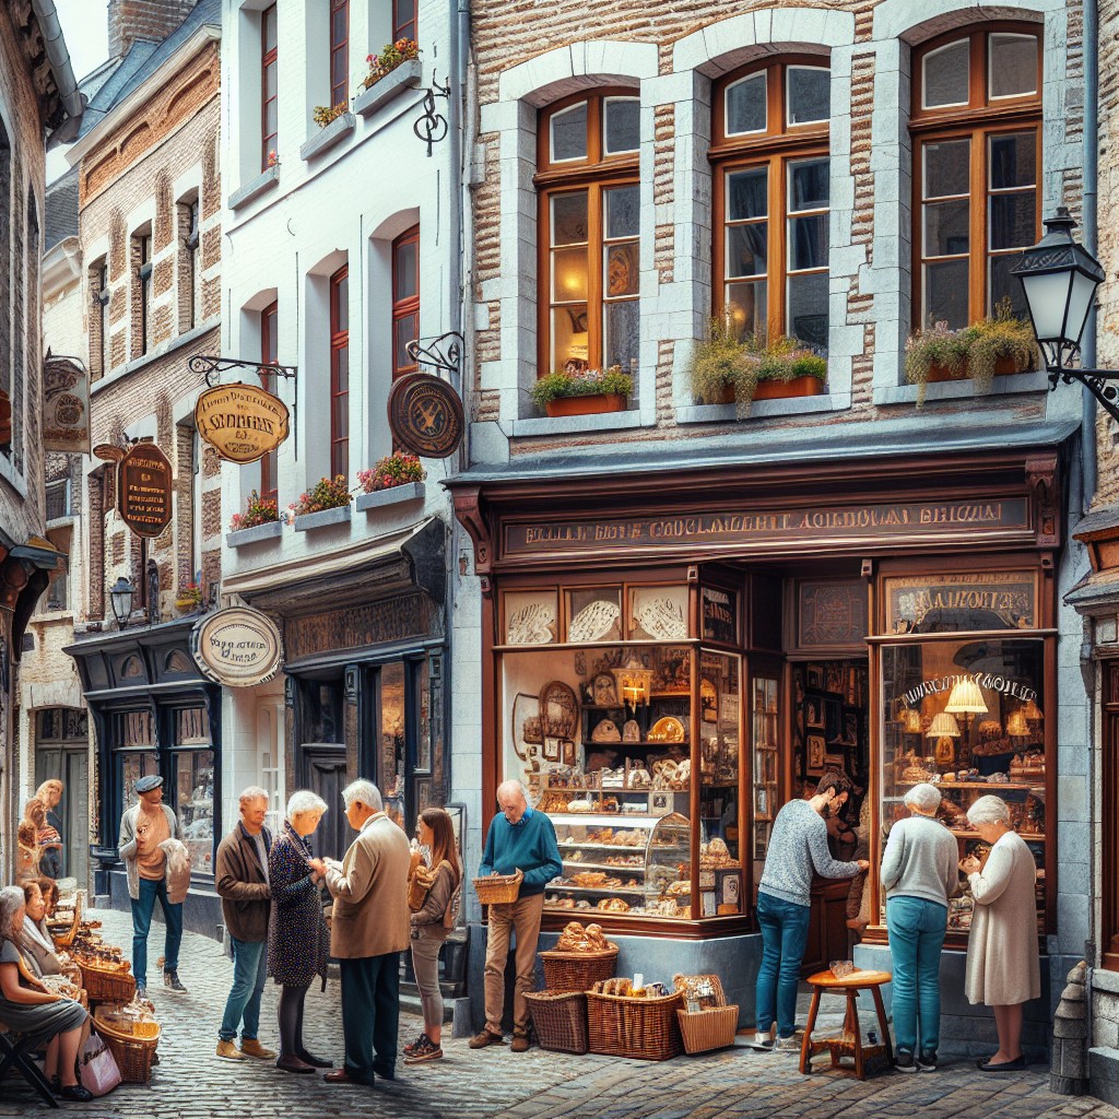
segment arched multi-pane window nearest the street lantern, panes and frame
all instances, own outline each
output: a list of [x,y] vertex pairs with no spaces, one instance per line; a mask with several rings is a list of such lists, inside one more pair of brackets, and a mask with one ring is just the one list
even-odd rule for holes
[[958,31],[913,62],[914,325],[996,313],[1041,234],[1041,39],[1028,25]]

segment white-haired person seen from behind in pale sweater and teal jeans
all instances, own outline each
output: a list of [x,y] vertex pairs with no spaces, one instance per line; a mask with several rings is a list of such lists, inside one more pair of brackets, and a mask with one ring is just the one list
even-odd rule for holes
[[905,793],[909,818],[890,829],[882,856],[894,972],[894,1065],[901,1072],[932,1072],[940,1045],[940,950],[948,897],[959,884],[956,839],[937,820],[940,799],[934,784],[913,786]]

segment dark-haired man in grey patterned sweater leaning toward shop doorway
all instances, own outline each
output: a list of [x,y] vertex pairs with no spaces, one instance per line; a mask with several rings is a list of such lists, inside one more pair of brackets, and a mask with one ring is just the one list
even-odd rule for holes
[[[762,962],[755,993],[756,1033],[753,1047],[781,1053],[798,1052],[793,1038],[797,985],[808,943],[812,872],[825,878],[850,878],[871,864],[838,863],[828,850],[824,822],[850,794],[846,774],[829,770],[811,800],[791,800],[773,824],[765,869],[758,884],[758,923],[762,930]],[[778,1037],[772,1036],[774,1009]]]

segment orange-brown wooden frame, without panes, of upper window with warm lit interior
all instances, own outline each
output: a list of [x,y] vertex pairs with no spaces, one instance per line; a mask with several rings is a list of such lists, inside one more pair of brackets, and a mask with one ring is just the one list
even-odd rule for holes
[[[632,186],[640,181],[640,147],[634,151],[606,154],[606,101],[615,97],[637,100],[639,93],[630,86],[604,86],[581,91],[542,109],[537,117],[536,167],[533,179],[537,188],[537,377],[553,372],[552,365],[552,217],[555,195],[586,190],[587,211],[587,284],[586,328],[587,364],[601,368],[603,358],[603,323],[606,301],[602,284],[602,254],[605,246],[602,215],[602,192],[609,187]],[[552,162],[552,117],[572,105],[586,102],[586,158]],[[641,231],[638,231],[640,244]],[[640,300],[640,295],[638,297]]]

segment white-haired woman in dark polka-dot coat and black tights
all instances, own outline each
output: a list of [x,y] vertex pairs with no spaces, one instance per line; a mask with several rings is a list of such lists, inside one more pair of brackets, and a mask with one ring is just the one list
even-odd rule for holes
[[303,1047],[303,999],[316,975],[327,974],[329,937],[319,893],[321,877],[310,865],[311,835],[326,810],[326,801],[309,789],[293,792],[288,819],[269,853],[269,975],[282,986],[276,1068],[284,1072],[311,1073],[331,1066]]

